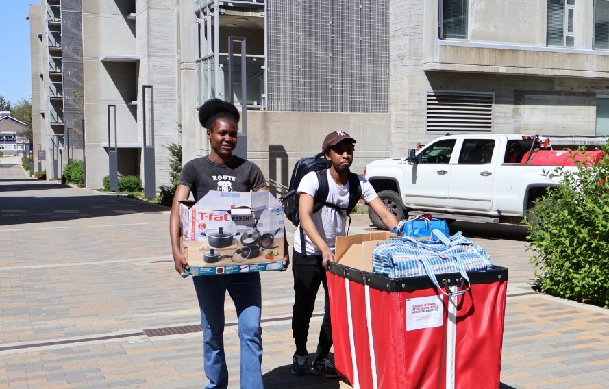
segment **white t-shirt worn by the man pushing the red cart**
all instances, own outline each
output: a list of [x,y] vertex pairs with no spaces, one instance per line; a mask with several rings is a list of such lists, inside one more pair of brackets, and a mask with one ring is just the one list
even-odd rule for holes
[[[330,176],[330,169],[327,170],[326,174],[328,183],[327,202],[336,204],[340,208],[347,208],[349,205],[349,182],[344,186],[338,185]],[[358,175],[358,178],[360,179],[360,186],[362,186],[362,200],[364,203],[369,203],[376,199],[378,194],[376,194],[368,180],[360,175]],[[313,171],[302,177],[297,192],[298,194],[307,193],[312,197],[315,197],[318,189],[319,183],[317,182],[317,175]],[[347,216],[345,216],[344,212],[336,210],[336,208],[324,205],[321,207],[321,210],[313,214],[313,223],[315,224],[319,235],[321,235],[332,251],[334,251],[336,236],[344,236],[347,234]],[[294,233],[294,249],[299,253],[303,253],[302,244],[300,242],[300,228],[299,225]],[[305,240],[307,254],[321,254],[321,250],[311,242],[306,233]]]

